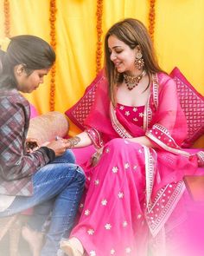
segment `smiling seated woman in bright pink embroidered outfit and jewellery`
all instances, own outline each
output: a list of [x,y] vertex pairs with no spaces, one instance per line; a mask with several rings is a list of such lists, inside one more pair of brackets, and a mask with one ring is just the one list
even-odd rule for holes
[[124,19],[107,31],[105,75],[86,131],[67,141],[98,151],[86,163],[80,221],[61,249],[68,256],[144,256],[152,248],[151,255],[166,255],[186,220],[183,175],[194,174],[198,161],[180,147],[185,115],[143,23]]

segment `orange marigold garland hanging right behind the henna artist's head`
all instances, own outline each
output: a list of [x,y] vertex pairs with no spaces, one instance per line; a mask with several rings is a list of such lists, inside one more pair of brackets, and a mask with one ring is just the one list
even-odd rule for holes
[[[50,23],[50,44],[53,47],[53,49],[56,49],[56,30],[55,30],[55,22],[56,22],[56,13],[57,13],[57,8],[56,8],[56,1],[55,0],[50,0],[49,3],[49,23]],[[56,75],[56,67],[55,64],[50,70],[50,97],[49,97],[49,108],[50,111],[54,111],[54,96],[55,96],[55,75]]]

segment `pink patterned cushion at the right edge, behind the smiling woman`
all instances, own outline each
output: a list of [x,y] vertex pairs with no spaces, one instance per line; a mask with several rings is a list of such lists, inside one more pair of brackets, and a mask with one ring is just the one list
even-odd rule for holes
[[188,122],[188,136],[182,147],[190,148],[194,141],[204,134],[204,97],[194,89],[178,68],[175,67],[169,75],[176,82],[178,96]]

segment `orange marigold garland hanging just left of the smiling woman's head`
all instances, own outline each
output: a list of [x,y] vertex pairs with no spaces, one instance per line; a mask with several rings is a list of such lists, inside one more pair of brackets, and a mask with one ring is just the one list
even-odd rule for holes
[[103,15],[103,0],[97,0],[97,49],[96,49],[96,74],[99,73],[101,69],[101,59],[102,59],[102,15]]

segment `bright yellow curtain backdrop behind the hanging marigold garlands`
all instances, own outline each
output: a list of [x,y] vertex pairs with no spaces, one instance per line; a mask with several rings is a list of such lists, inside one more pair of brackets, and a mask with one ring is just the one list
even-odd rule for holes
[[[0,38],[4,33],[4,5],[0,0]],[[50,42],[50,0],[10,0],[10,36],[33,34]],[[96,10],[93,0],[56,0],[55,110],[64,112],[83,95],[96,75]],[[148,26],[150,1],[104,0],[102,30],[124,17]],[[160,65],[175,66],[204,95],[204,1],[156,0],[154,42]],[[40,113],[49,111],[50,77],[41,88],[25,95]],[[77,129],[72,125],[70,134]]]

